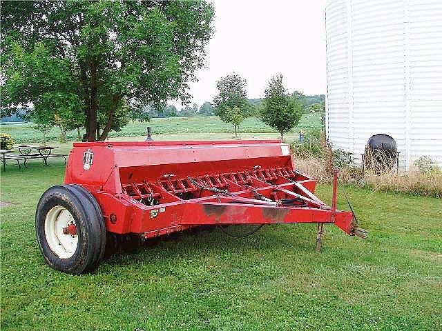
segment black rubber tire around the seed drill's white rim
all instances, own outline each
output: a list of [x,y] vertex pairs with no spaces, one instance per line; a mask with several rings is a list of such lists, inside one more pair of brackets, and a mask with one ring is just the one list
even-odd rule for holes
[[[77,225],[77,250],[68,259],[52,252],[46,241],[46,214],[56,205],[66,208]],[[79,185],[56,185],[44,192],[35,213],[35,230],[41,253],[55,270],[68,274],[91,272],[103,258],[106,246],[103,215],[93,195]]]

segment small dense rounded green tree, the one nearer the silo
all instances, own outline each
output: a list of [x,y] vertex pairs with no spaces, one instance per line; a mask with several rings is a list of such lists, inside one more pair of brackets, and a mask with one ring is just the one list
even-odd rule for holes
[[302,115],[302,106],[298,99],[287,94],[282,79],[282,74],[271,77],[260,109],[262,121],[278,130],[281,140],[285,132],[298,124]]

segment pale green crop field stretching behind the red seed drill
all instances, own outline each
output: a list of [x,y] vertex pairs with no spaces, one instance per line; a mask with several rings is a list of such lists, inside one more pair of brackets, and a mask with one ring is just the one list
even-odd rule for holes
[[[218,117],[171,117],[166,119],[151,119],[151,122],[140,123],[137,121],[128,123],[120,132],[111,132],[109,137],[134,137],[144,136],[146,126],[151,126],[153,134],[181,134],[186,138],[188,133],[230,133],[233,126],[222,122]],[[298,126],[291,130],[291,133],[299,130],[311,131],[320,127],[319,114],[303,114]],[[43,134],[34,128],[33,123],[2,124],[0,130],[8,133],[16,143],[36,143],[43,141]],[[240,133],[274,133],[265,123],[256,117],[249,117],[239,126]],[[46,135],[46,141],[57,141],[59,129],[52,128]],[[77,131],[70,131],[67,134],[68,140],[77,139]],[[278,136],[276,136],[278,137]]]

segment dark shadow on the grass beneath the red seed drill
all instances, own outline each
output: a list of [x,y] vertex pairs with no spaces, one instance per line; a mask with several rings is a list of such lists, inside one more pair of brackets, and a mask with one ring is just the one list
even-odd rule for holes
[[[302,224],[306,225],[306,224]],[[307,225],[308,226],[308,225]],[[291,250],[299,254],[314,253],[316,227],[310,225],[310,234],[296,230],[298,225],[269,224],[260,231],[245,238],[233,238],[224,234],[217,226],[193,228],[175,232],[169,236],[147,239],[136,249],[120,245],[118,249],[102,261],[102,265],[130,265],[140,259],[152,263],[176,263],[185,254],[186,259],[200,260],[204,257],[228,258],[232,254],[270,254],[275,250]],[[244,232],[247,232],[245,230]],[[294,236],[297,235],[296,240]],[[103,269],[99,269],[102,272]]]

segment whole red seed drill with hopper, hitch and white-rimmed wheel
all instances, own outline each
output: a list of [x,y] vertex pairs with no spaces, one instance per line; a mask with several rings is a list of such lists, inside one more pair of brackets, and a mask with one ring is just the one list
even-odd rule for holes
[[[316,181],[294,168],[289,145],[267,141],[74,143],[65,185],[47,190],[37,239],[52,268],[97,267],[106,232],[149,239],[200,225],[324,223],[365,237],[352,212],[314,195]],[[222,227],[222,230],[225,230]]]

